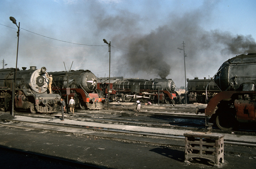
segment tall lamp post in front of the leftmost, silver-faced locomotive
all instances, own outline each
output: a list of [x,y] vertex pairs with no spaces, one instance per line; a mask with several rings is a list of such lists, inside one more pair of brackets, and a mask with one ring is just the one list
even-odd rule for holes
[[12,23],[14,23],[17,27],[18,27],[18,32],[17,32],[17,36],[18,36],[18,44],[17,44],[17,56],[16,56],[16,67],[15,67],[15,72],[14,72],[14,82],[12,83],[12,116],[14,116],[14,95],[15,95],[15,88],[16,88],[16,74],[17,74],[17,62],[18,62],[18,49],[19,49],[19,37],[20,37],[20,22],[19,22],[19,26],[16,23],[16,19],[14,17],[10,17],[10,20],[12,21]]

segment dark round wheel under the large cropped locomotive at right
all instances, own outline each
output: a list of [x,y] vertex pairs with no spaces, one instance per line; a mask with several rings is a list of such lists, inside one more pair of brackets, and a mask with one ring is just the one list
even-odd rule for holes
[[221,112],[216,116],[216,125],[222,130],[232,130],[236,126],[235,116],[229,112]]

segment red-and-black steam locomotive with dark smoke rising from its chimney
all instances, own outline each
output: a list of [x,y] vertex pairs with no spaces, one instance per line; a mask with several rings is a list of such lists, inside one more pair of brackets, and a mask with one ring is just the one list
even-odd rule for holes
[[[139,98],[142,102],[159,101],[165,103],[175,103],[178,93],[174,91],[175,84],[172,79],[126,79],[122,77],[118,80],[111,80],[109,84],[107,78],[99,78],[98,89],[102,89],[104,95],[110,94],[110,101],[118,100],[129,102]],[[105,81],[104,81],[105,80]],[[103,81],[103,82],[102,82]],[[110,89],[110,92],[108,92]]]

